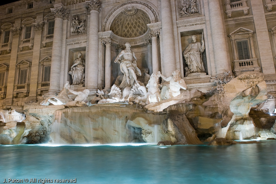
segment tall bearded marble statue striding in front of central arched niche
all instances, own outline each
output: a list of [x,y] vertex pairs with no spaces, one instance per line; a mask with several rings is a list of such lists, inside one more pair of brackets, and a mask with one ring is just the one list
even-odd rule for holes
[[137,57],[130,47],[130,43],[125,43],[125,50],[122,50],[114,61],[120,64],[121,72],[124,74],[120,88],[133,86],[137,82],[136,75],[141,76],[141,71],[137,67]]

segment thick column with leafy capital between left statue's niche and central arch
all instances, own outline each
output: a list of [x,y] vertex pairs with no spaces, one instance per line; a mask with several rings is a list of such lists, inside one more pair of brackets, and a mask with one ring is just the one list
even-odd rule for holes
[[101,3],[99,0],[86,1],[90,8],[90,24],[88,38],[88,61],[86,62],[87,87],[90,91],[96,92],[98,88],[98,55],[99,55],[99,11]]

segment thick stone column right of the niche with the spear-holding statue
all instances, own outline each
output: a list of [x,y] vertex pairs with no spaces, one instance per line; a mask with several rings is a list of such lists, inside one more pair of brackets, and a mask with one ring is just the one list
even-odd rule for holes
[[225,71],[231,71],[227,62],[226,40],[224,35],[224,24],[221,15],[219,0],[208,0],[210,12],[210,24],[212,30],[213,48],[215,55],[216,75],[222,75]]

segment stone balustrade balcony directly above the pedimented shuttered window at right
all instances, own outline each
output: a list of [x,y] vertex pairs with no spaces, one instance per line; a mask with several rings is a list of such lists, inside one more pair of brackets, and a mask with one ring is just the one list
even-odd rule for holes
[[241,0],[237,2],[230,2],[230,0],[225,0],[226,6],[226,15],[228,18],[231,18],[232,13],[236,11],[243,11],[244,15],[248,15],[249,7],[246,4],[247,0]]

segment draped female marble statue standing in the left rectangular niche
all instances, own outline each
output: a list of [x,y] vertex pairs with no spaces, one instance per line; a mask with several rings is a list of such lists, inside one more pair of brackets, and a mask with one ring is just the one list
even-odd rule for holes
[[71,70],[68,72],[72,76],[72,85],[84,84],[85,62],[81,56],[81,52],[77,53],[77,59],[75,59],[74,65],[71,66]]

